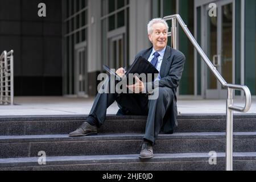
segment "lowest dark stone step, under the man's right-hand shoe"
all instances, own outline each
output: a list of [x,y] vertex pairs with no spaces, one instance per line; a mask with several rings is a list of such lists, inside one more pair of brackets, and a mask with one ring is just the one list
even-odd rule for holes
[[[225,170],[225,153],[217,153],[216,165],[209,164],[208,153],[155,154],[149,160],[140,160],[138,154],[52,156],[46,165],[39,165],[39,157],[0,159],[0,170],[83,170],[83,171],[176,171],[176,170]],[[234,152],[233,169],[256,170],[256,152]],[[130,172],[131,173],[131,172]],[[134,173],[134,172],[133,172]],[[136,172],[141,173],[141,172]],[[142,172],[145,173],[145,172]],[[146,172],[150,173],[150,172]],[[122,176],[127,178],[127,175]],[[97,180],[96,180],[97,179]],[[102,176],[95,176],[96,181]],[[135,179],[134,179],[135,180]]]

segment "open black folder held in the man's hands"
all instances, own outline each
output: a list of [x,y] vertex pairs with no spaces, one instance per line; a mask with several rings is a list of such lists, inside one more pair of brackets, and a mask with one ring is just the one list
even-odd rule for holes
[[[117,77],[117,80],[122,81],[123,79],[127,79],[127,84],[129,83],[129,73],[132,74],[138,74],[141,75],[142,73],[146,74],[146,81],[150,82],[150,81],[154,81],[156,78],[155,74],[159,74],[158,70],[146,59],[144,59],[144,57],[139,56],[134,62],[133,64],[130,66],[130,68],[125,72],[125,75],[121,78],[117,75],[117,73],[113,73],[110,71],[110,68],[107,67],[106,65],[103,66],[104,69],[106,69],[106,71],[108,71],[110,74],[113,74]],[[147,74],[152,74],[151,75],[151,80],[148,80]],[[158,76],[158,75],[157,75]],[[135,83],[135,78],[133,83]]]

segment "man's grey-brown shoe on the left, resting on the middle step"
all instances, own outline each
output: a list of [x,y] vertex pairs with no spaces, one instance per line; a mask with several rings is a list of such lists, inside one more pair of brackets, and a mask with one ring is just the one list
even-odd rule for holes
[[76,130],[68,134],[69,137],[84,137],[88,135],[97,135],[97,126],[92,126],[88,122],[82,123],[82,125]]

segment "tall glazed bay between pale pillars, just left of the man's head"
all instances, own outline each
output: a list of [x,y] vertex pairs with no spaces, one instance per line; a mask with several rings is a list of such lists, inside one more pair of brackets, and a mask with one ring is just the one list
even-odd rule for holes
[[[108,64],[110,67],[115,67],[115,65],[117,65],[117,63],[110,61],[110,59],[118,59],[114,53],[118,50],[117,47],[122,51],[122,64],[129,64],[127,61],[129,60],[129,41],[127,41],[129,40],[129,34],[122,34],[121,42],[114,40],[113,37],[107,38],[109,31],[113,31],[120,27],[125,26],[126,31],[129,32],[129,8],[127,7],[125,10],[120,11],[120,9],[128,4],[129,1],[127,0],[101,0],[101,15],[104,17],[104,19],[101,20],[101,60],[102,64]],[[115,31],[113,31],[113,33],[115,33]],[[121,35],[115,35],[115,38],[118,36]]]

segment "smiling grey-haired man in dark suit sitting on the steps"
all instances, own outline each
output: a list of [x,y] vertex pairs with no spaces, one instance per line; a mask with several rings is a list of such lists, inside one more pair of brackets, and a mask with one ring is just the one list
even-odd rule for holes
[[[97,128],[105,121],[106,109],[114,101],[117,101],[120,107],[118,114],[148,116],[139,158],[147,159],[154,156],[152,146],[161,130],[167,134],[174,133],[177,126],[176,89],[183,72],[185,56],[167,46],[168,24],[165,20],[152,19],[147,29],[152,47],[139,52],[135,60],[142,56],[150,61],[159,71],[157,81],[142,82],[136,78],[137,82],[134,85],[127,85],[134,92],[132,94],[98,93],[86,122],[70,133],[69,137],[97,134]],[[116,73],[123,76],[124,69],[119,68]],[[158,97],[149,100],[148,95],[152,90],[147,88],[158,89]],[[135,92],[138,90],[139,93]]]

